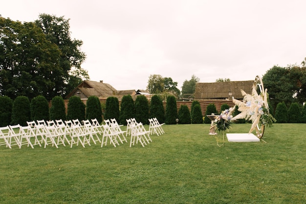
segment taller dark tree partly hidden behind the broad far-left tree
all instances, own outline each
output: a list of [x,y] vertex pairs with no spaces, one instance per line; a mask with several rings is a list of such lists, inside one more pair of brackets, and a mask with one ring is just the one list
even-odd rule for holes
[[56,88],[62,90],[63,95],[68,94],[83,79],[89,79],[87,71],[81,68],[86,59],[85,53],[80,50],[83,41],[71,39],[69,19],[63,16],[41,14],[35,23],[43,30],[46,39],[56,44],[61,51],[60,66],[63,68],[63,75],[58,76]]

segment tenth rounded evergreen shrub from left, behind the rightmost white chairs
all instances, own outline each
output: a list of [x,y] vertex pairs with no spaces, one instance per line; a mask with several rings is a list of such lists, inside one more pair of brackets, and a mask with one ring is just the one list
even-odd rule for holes
[[153,95],[151,98],[149,117],[156,118],[160,123],[165,122],[164,103],[158,95]]

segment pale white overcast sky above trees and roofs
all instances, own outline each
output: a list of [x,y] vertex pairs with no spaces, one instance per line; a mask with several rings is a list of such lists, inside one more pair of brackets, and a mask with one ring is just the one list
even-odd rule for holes
[[90,80],[146,89],[149,76],[178,82],[254,80],[306,57],[305,0],[5,0],[0,15],[70,19]]

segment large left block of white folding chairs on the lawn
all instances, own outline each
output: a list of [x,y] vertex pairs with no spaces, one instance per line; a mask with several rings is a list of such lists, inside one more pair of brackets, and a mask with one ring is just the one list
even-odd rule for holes
[[[72,147],[73,144],[79,145],[79,143],[85,147],[86,144],[90,146],[90,141],[94,144],[101,143],[99,134],[102,132],[95,128],[95,124],[98,124],[96,119],[92,119],[92,123],[89,120],[83,121],[83,125],[79,120],[69,120],[63,122],[62,120],[55,121],[31,121],[27,122],[27,126],[7,125],[0,127],[0,145],[6,145],[6,147],[12,148],[14,145],[18,145],[19,148],[22,145],[31,146],[35,145],[40,147],[52,145],[58,148],[60,144],[66,146],[69,144]],[[32,138],[34,138],[32,140]]]

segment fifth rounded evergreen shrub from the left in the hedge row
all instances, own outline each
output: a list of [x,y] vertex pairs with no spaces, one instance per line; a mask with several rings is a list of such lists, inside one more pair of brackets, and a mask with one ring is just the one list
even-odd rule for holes
[[85,120],[85,104],[80,97],[71,96],[67,106],[67,120]]

